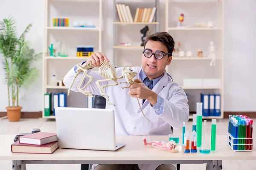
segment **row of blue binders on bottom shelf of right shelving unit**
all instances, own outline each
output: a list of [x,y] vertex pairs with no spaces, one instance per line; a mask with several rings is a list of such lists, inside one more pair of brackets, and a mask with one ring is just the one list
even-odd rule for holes
[[203,103],[203,116],[221,115],[221,95],[220,94],[201,94]]

